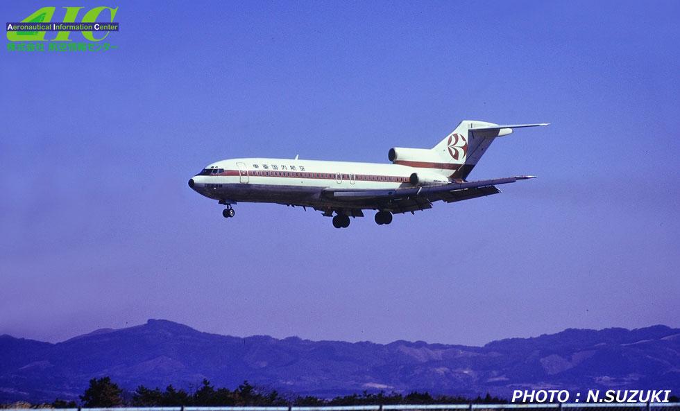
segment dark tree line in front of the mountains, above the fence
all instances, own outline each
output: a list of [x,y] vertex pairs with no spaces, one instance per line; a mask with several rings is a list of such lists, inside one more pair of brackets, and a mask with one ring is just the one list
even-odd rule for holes
[[[90,386],[79,396],[80,405],[86,408],[111,408],[126,405],[134,407],[170,407],[170,406],[322,406],[322,405],[391,405],[391,404],[436,404],[436,403],[507,403],[490,394],[468,399],[463,396],[433,396],[429,392],[411,392],[403,395],[398,392],[362,392],[337,396],[333,399],[321,399],[316,396],[283,395],[276,390],[251,385],[244,381],[235,390],[225,387],[214,387],[210,381],[203,380],[198,390],[189,393],[168,385],[165,390],[148,388],[139,385],[135,392],[125,392],[109,377],[92,378]],[[53,408],[76,408],[76,401],[57,399]]]

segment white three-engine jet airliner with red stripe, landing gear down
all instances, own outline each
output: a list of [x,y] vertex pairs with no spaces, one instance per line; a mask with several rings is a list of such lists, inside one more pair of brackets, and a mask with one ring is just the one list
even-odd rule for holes
[[486,149],[497,137],[516,128],[549,123],[498,125],[464,120],[433,148],[394,147],[392,164],[300,159],[238,158],[205,166],[189,187],[235,216],[237,202],[269,202],[311,207],[346,228],[350,217],[376,210],[375,222],[388,225],[393,214],[432,208],[436,201],[457,202],[500,193],[496,186],[533,175],[467,181]]

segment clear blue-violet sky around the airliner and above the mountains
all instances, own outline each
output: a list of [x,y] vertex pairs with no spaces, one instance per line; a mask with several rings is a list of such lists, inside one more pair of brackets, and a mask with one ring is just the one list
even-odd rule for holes
[[[82,2],[103,4],[115,51],[3,40],[0,333],[155,317],[484,344],[680,326],[677,1]],[[463,119],[551,122],[470,175],[539,178],[342,230],[274,204],[225,220],[187,186],[232,157],[386,162]]]

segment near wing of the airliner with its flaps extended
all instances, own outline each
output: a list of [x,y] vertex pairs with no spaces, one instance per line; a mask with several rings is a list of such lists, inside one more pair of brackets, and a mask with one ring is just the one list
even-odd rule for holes
[[[413,213],[416,210],[432,208],[432,202],[456,202],[470,198],[484,197],[500,193],[495,186],[517,180],[535,178],[532,175],[519,175],[493,180],[471,182],[452,182],[430,186],[416,186],[394,190],[325,190],[323,195],[333,200],[347,202],[349,207],[362,209],[385,209],[392,213]],[[355,203],[355,204],[352,204]]]

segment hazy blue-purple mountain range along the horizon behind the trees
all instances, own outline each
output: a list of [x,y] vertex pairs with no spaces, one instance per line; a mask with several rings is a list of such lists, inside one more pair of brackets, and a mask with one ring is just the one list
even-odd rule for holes
[[483,347],[417,341],[310,341],[196,331],[167,320],[100,329],[52,344],[0,336],[0,403],[77,399],[90,378],[126,390],[169,384],[192,390],[207,378],[244,380],[290,394],[355,392],[508,397],[513,389],[664,389],[680,392],[680,329],[567,329]]

